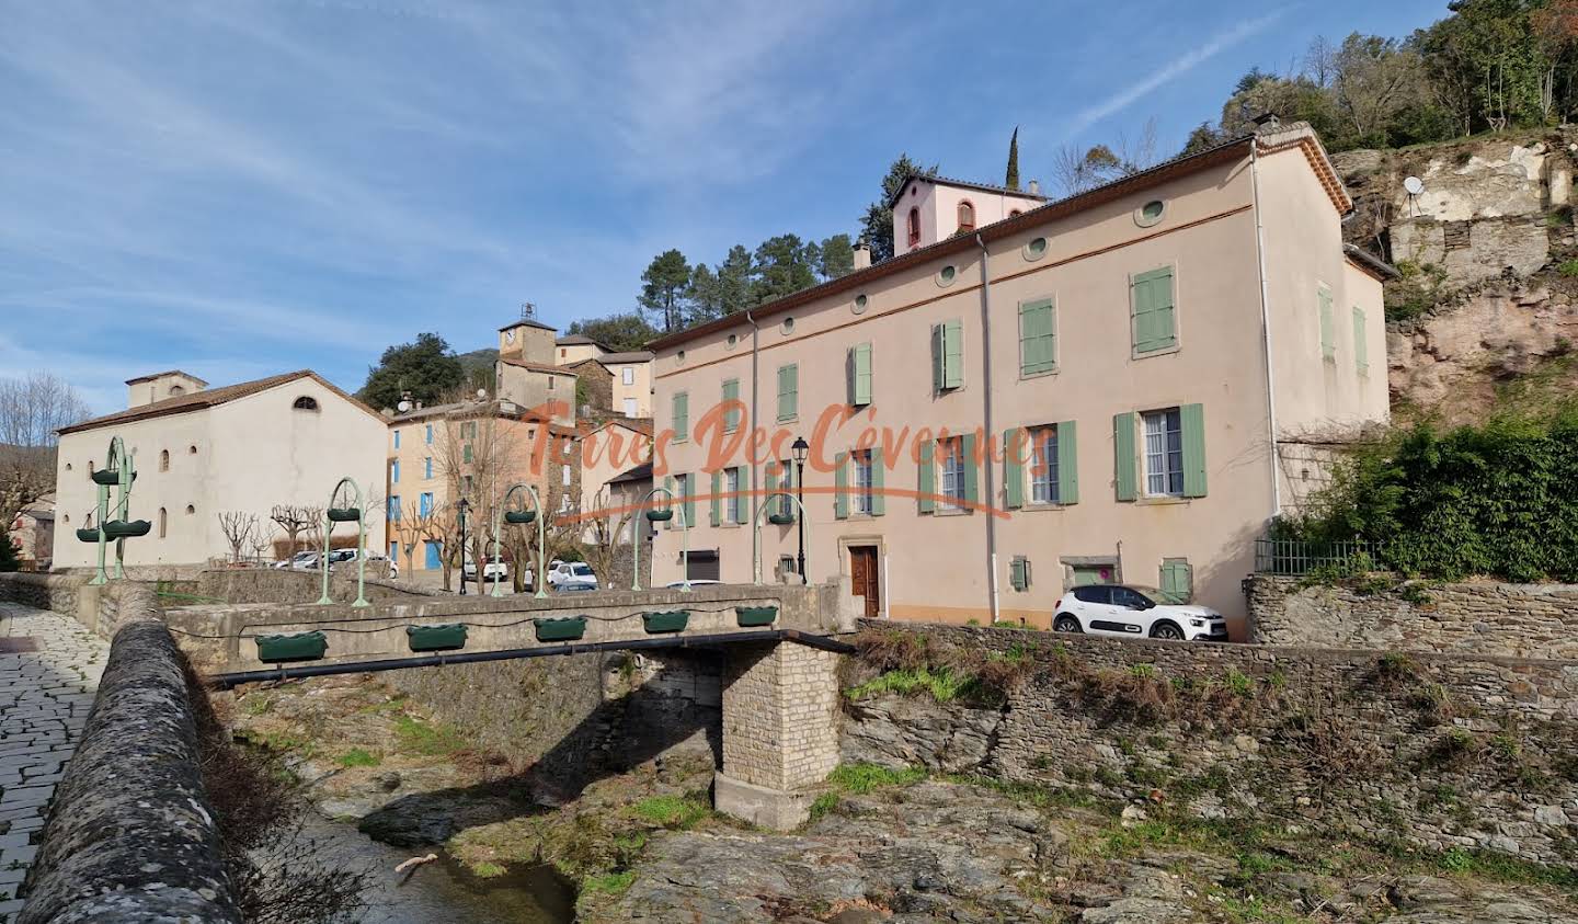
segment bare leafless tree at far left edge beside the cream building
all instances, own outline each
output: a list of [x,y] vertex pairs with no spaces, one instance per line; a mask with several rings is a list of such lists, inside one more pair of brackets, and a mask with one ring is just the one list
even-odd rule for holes
[[0,523],[55,490],[55,431],[88,414],[77,390],[55,374],[0,379]]

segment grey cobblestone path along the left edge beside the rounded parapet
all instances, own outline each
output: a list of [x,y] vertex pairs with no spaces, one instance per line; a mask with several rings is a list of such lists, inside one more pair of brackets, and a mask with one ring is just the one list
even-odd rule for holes
[[33,840],[107,657],[109,643],[76,619],[0,603],[0,924],[22,908],[16,894],[38,853]]

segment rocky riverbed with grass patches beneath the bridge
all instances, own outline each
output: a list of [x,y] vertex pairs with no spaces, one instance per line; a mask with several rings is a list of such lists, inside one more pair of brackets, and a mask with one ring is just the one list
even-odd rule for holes
[[582,921],[1578,924],[1570,872],[920,769],[839,768],[795,834],[715,815],[707,755],[650,760],[567,798],[376,679],[254,689],[232,712],[240,734],[292,753],[325,818],[483,881],[548,864],[579,891]]

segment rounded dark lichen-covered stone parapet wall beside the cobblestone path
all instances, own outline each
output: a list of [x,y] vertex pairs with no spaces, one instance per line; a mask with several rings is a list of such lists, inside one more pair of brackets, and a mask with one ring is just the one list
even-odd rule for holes
[[109,663],[55,790],[19,924],[238,924],[180,651],[153,591],[103,594]]

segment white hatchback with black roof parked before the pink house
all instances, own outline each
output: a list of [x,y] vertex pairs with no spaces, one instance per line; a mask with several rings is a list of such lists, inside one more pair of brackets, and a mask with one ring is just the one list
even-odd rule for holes
[[1155,588],[1084,584],[1057,600],[1053,632],[1228,641],[1228,621],[1210,607],[1180,603]]

